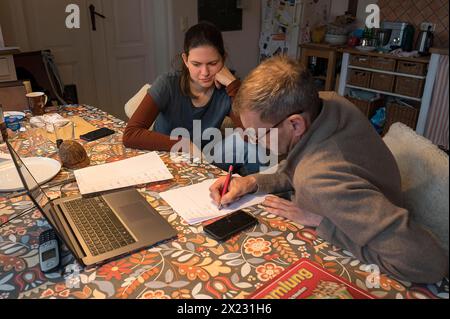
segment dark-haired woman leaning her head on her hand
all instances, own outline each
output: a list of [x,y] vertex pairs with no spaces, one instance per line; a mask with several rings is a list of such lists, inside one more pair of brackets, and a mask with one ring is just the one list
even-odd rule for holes
[[[171,140],[172,130],[185,128],[192,139],[194,120],[201,120],[202,132],[220,128],[226,116],[241,127],[231,110],[240,81],[225,66],[225,58],[222,35],[214,25],[199,23],[191,27],[185,35],[181,71],[156,79],[128,122],[124,145],[170,151],[182,140]],[[153,124],[153,131],[149,131]],[[192,142],[186,142],[192,149]],[[206,142],[203,140],[202,145]]]

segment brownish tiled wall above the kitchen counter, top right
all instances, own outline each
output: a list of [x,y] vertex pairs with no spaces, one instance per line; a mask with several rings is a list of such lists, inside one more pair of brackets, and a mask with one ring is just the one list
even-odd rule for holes
[[409,22],[416,28],[420,23],[436,24],[434,47],[448,48],[448,0],[378,0],[381,20]]

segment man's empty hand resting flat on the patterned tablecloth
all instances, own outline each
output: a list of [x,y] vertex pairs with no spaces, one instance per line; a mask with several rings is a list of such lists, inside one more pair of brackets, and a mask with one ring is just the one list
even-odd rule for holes
[[263,205],[269,213],[285,217],[303,226],[317,227],[323,219],[322,216],[302,210],[293,202],[274,195],[267,196]]

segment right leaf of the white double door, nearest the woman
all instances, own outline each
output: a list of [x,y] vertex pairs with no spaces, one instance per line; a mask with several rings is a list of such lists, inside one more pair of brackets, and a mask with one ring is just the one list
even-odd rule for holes
[[91,31],[101,108],[125,119],[125,103],[155,77],[153,1],[92,0],[97,31]]

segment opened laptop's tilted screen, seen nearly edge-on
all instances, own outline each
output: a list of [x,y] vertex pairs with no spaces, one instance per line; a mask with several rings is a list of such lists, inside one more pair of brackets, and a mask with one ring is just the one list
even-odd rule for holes
[[17,154],[17,152],[14,150],[11,144],[9,144],[9,142],[6,142],[6,144],[8,146],[9,153],[11,154],[13,162],[16,165],[20,179],[24,184],[23,186],[28,191],[28,195],[32,197],[32,199],[37,205],[40,206],[39,208],[43,212],[44,211],[43,208],[50,202],[50,199],[47,197],[45,192],[36,182],[33,175],[30,173],[25,164],[22,162],[20,156]]

